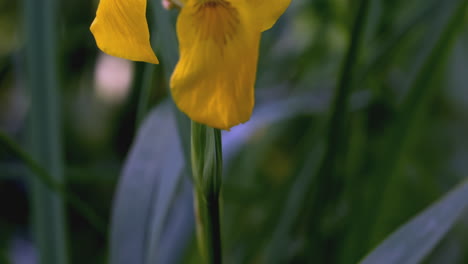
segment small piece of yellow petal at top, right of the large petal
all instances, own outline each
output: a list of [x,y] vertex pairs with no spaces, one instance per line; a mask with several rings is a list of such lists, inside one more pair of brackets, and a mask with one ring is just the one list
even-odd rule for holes
[[250,17],[260,31],[270,29],[286,11],[291,0],[240,0],[250,11]]

